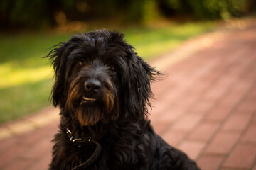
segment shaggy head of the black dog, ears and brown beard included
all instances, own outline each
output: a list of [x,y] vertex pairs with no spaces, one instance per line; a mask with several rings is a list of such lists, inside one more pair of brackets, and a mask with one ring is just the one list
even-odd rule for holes
[[53,60],[54,106],[80,125],[137,120],[150,106],[150,82],[159,74],[123,35],[108,30],[74,35],[48,55]]

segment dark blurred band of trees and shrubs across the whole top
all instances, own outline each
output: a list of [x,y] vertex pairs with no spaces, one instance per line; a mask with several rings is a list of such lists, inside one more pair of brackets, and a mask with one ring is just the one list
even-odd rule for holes
[[145,22],[165,17],[227,19],[255,10],[255,0],[1,0],[1,28],[44,28],[68,21]]

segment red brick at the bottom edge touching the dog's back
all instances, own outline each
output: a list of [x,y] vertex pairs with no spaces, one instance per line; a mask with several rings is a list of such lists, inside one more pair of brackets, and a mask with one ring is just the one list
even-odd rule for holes
[[225,157],[223,156],[204,154],[202,157],[198,159],[197,163],[202,170],[216,170],[219,168],[224,158]]

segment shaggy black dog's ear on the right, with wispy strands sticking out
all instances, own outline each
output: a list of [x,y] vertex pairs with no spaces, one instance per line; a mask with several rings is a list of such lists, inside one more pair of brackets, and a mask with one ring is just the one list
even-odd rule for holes
[[147,115],[147,106],[151,108],[150,99],[153,98],[151,82],[159,75],[161,75],[160,72],[132,52],[129,63],[128,91],[125,92],[128,120],[137,120]]

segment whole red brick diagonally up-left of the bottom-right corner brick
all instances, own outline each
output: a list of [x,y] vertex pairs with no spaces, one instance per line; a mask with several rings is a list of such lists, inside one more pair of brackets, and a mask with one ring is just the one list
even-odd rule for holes
[[228,154],[239,137],[239,133],[219,132],[206,148],[206,153]]

